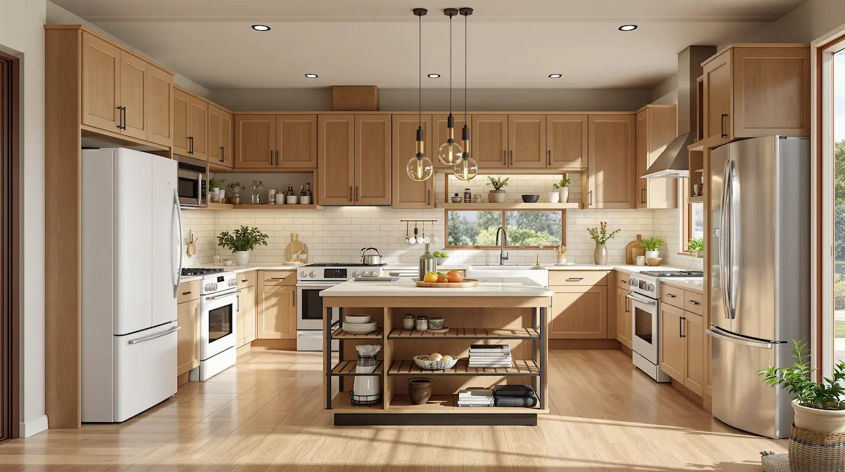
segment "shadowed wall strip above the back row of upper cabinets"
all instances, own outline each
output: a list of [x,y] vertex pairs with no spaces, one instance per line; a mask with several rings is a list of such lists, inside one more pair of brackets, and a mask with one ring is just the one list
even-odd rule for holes
[[[331,110],[330,89],[215,90],[211,100],[233,111]],[[379,91],[385,112],[417,109],[417,89]],[[467,107],[477,111],[626,112],[651,102],[650,90],[476,89],[467,94]],[[453,109],[464,109],[464,91],[453,91]],[[449,110],[448,89],[423,89],[423,110]]]

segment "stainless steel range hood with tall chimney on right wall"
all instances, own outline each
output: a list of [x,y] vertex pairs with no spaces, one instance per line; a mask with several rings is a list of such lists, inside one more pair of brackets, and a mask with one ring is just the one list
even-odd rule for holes
[[702,73],[701,63],[716,52],[712,46],[690,46],[678,54],[678,132],[660,156],[641,177],[690,177],[690,151],[687,146],[697,139],[691,131],[695,123],[695,82]]

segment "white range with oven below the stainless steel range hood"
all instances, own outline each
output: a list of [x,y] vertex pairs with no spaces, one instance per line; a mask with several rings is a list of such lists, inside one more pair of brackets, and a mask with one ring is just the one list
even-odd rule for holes
[[660,370],[660,278],[703,277],[695,271],[646,271],[628,277],[630,285],[631,347],[634,365],[659,382],[669,376]]

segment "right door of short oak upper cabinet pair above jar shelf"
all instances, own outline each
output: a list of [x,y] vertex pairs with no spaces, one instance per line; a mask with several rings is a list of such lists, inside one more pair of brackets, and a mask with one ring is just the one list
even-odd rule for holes
[[317,168],[317,115],[276,115],[275,151],[275,167]]

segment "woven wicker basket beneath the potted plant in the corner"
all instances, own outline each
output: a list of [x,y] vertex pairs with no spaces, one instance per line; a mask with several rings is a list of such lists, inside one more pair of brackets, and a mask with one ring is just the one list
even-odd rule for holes
[[845,472],[845,433],[820,433],[792,427],[789,436],[792,472]]

